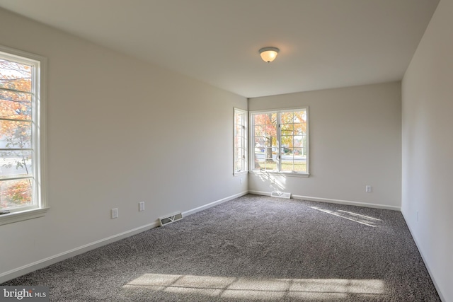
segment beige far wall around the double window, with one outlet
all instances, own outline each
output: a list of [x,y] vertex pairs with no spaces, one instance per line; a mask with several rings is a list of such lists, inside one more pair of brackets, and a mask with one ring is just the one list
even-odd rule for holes
[[[309,106],[309,178],[250,175],[249,190],[399,209],[401,83],[291,93],[248,100],[248,109]],[[275,178],[275,184],[273,179]],[[365,192],[372,185],[372,192]]]

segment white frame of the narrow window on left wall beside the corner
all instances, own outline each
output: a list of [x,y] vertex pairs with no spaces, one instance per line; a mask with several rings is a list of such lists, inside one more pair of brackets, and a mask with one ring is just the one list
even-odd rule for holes
[[[236,141],[237,141],[237,120],[236,117],[237,115],[243,115],[243,123],[240,125],[241,126],[241,141],[239,141],[239,148],[243,149],[243,155],[242,158],[238,158],[238,154],[236,152],[237,146],[236,146]],[[233,175],[244,175],[248,173],[248,130],[247,130],[247,121],[248,118],[248,111],[247,110],[242,110],[239,108],[234,108],[234,115],[233,115]],[[236,161],[242,161],[242,170],[237,170],[236,169]]]

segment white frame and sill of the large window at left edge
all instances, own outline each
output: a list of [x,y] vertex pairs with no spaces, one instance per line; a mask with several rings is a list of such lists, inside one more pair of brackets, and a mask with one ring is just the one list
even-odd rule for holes
[[0,226],[45,216],[49,209],[45,187],[45,103],[47,58],[0,45],[0,57],[12,62],[33,66],[32,78],[32,149],[33,149],[33,205],[11,209],[0,215]]

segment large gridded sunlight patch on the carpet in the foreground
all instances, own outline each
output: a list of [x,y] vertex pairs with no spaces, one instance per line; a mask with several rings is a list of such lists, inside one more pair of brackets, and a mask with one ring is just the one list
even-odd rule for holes
[[143,274],[122,287],[222,298],[324,301],[351,296],[380,296],[386,292],[384,281],[379,279],[253,279],[176,274]]

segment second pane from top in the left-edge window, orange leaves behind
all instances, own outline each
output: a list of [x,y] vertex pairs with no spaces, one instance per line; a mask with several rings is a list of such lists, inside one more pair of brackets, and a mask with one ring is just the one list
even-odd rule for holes
[[31,109],[30,93],[19,93],[0,89],[1,118],[31,120]]

